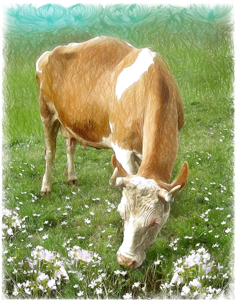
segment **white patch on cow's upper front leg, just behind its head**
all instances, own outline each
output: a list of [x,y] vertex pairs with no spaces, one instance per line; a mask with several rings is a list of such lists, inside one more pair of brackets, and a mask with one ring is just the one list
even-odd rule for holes
[[113,142],[111,142],[111,147],[114,150],[117,161],[121,163],[126,172],[134,175],[136,171],[133,150],[123,149],[122,147],[118,146],[117,143]]

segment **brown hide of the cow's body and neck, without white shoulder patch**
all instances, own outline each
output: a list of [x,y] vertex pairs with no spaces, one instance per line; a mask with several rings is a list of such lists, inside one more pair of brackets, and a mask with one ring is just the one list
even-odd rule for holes
[[111,134],[110,121],[112,142],[140,154],[143,148],[138,175],[169,183],[184,112],[167,64],[157,55],[148,72],[125,90],[119,102],[115,96],[118,75],[141,51],[105,36],[55,47],[39,62],[41,115],[51,115],[53,104],[72,136],[78,135],[90,146]]

